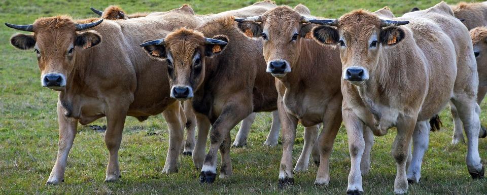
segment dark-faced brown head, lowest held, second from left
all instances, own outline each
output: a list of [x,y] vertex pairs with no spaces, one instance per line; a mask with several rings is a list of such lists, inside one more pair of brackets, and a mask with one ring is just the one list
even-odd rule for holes
[[141,47],[150,56],[166,60],[171,97],[187,100],[203,83],[205,60],[224,51],[228,43],[225,35],[204,37],[201,32],[181,28],[160,40],[149,41]]

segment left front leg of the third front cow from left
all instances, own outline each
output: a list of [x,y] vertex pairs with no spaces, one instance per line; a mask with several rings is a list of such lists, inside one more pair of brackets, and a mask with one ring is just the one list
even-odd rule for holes
[[298,120],[286,112],[282,97],[277,99],[277,109],[281,120],[282,140],[283,140],[283,157],[279,167],[279,187],[287,184],[293,184],[293,145],[296,138],[296,127]]

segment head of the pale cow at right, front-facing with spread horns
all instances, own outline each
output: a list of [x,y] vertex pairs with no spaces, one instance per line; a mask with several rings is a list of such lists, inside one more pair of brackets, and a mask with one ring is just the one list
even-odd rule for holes
[[395,47],[405,38],[400,25],[407,21],[382,20],[377,15],[357,10],[340,19],[310,20],[322,24],[312,30],[318,43],[340,47],[343,80],[361,85],[376,69],[381,51]]

